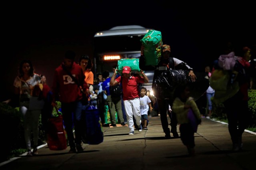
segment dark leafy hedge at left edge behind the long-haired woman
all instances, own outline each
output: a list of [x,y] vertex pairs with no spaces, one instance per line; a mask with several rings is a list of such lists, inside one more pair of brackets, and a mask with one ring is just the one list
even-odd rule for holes
[[[57,108],[60,109],[60,107],[61,103],[57,102]],[[57,116],[55,110],[52,114]],[[26,150],[23,119],[19,107],[14,108],[8,104],[0,103],[0,132],[2,136],[0,146],[4,146],[0,154],[0,162],[18,156]],[[33,136],[31,139],[33,140]],[[40,115],[38,146],[44,143],[46,143],[46,134],[43,130]]]

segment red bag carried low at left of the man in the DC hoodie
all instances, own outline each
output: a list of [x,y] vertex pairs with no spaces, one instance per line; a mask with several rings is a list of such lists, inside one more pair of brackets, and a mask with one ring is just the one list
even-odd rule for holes
[[46,136],[50,150],[64,150],[67,148],[66,131],[63,126],[62,115],[55,107],[58,116],[50,117],[47,122]]

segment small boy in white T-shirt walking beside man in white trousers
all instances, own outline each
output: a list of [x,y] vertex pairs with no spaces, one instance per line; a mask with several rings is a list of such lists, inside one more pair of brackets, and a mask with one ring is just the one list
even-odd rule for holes
[[152,111],[151,107],[151,100],[147,94],[147,89],[145,87],[141,87],[140,90],[140,114],[141,114],[141,123],[142,123],[142,130],[148,130],[148,109]]

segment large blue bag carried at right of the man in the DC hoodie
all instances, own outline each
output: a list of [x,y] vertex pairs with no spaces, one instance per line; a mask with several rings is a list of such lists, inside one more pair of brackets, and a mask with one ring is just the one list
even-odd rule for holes
[[103,142],[103,130],[100,120],[100,111],[91,102],[85,109],[86,139],[90,145],[98,145]]

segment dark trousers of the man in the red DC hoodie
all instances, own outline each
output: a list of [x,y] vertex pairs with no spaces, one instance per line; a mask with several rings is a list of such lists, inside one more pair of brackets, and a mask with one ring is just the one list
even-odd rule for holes
[[75,137],[76,144],[81,145],[82,138],[82,103],[81,102],[71,102],[71,103],[61,103],[61,111],[63,115],[65,130],[68,135],[68,141],[70,147],[74,147],[74,134],[73,134],[73,116],[74,113],[74,129],[75,129]]

